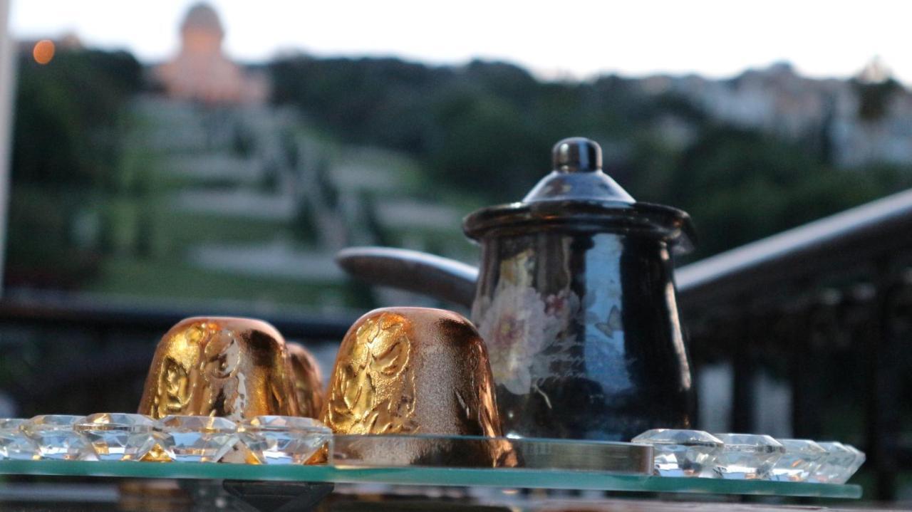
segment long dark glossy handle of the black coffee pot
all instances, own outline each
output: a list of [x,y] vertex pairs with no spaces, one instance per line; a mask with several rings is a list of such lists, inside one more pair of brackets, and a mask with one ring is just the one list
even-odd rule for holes
[[362,282],[418,292],[467,308],[475,298],[477,268],[427,252],[349,247],[338,251],[336,262]]

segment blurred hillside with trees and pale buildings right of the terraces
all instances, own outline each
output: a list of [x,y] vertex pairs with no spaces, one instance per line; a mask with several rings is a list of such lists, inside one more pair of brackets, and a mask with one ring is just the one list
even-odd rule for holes
[[520,199],[559,138],[595,138],[637,199],[690,212],[698,256],[912,186],[912,95],[888,77],[812,80],[778,65],[731,80],[543,82],[504,63],[310,56],[270,70],[275,102],[489,202]]

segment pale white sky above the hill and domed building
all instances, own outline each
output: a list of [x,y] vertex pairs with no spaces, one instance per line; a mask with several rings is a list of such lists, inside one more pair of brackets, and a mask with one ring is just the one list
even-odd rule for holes
[[[154,62],[177,48],[192,0],[13,0],[11,31],[77,34],[89,46],[126,48]],[[316,56],[400,56],[460,64],[507,60],[543,77],[617,72],[731,77],[787,60],[812,77],[849,77],[880,56],[912,84],[912,3],[897,0],[333,2],[212,0],[225,50],[262,61]]]

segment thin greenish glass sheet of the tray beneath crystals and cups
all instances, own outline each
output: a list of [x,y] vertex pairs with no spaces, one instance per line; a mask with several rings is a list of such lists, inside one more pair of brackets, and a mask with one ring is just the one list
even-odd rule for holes
[[143,463],[57,460],[0,461],[0,475],[128,476],[294,482],[373,483],[406,486],[493,486],[658,493],[710,493],[790,497],[861,497],[861,486],[674,478],[566,469],[461,467],[254,466],[211,463]]

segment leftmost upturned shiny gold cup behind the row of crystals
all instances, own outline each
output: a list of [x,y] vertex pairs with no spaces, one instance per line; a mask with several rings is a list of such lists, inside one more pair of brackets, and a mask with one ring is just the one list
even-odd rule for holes
[[299,415],[285,340],[258,320],[198,317],[166,333],[152,358],[140,414]]

